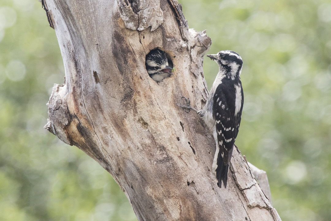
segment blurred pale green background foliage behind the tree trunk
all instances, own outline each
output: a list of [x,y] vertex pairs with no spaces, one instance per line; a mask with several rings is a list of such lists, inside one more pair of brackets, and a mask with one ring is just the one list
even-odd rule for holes
[[[331,1],[180,0],[209,53],[244,60],[236,144],[283,221],[331,220]],[[205,57],[209,88],[217,64]],[[0,0],[0,220],[136,220],[113,178],[43,129],[64,68],[37,0]]]

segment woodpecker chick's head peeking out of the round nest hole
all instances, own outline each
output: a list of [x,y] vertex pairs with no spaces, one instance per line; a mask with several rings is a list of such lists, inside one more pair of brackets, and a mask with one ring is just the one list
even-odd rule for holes
[[160,49],[151,50],[146,55],[145,65],[147,73],[155,82],[162,82],[163,79],[172,75],[172,68],[168,66],[166,52]]

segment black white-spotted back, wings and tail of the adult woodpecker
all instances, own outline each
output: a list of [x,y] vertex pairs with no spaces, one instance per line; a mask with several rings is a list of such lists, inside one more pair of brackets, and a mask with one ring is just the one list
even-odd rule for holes
[[[241,84],[239,85],[241,87]],[[240,93],[241,92],[242,90]],[[213,117],[215,118],[216,123],[218,142],[216,145],[219,147],[219,152],[217,155],[216,178],[218,180],[219,187],[221,187],[221,181],[223,181],[225,188],[234,141],[237,137],[241,120],[243,101],[240,102],[240,113],[235,116],[236,98],[238,99],[238,96],[236,96],[236,87],[233,82],[227,78],[222,79],[222,83],[216,88],[215,95],[213,97]]]

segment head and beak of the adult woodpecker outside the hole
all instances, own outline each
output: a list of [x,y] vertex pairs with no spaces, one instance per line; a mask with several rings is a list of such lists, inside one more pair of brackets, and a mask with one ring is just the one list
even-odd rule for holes
[[243,60],[236,52],[220,51],[217,54],[207,55],[207,57],[215,61],[219,65],[219,71],[224,72],[228,78],[232,80],[240,78]]

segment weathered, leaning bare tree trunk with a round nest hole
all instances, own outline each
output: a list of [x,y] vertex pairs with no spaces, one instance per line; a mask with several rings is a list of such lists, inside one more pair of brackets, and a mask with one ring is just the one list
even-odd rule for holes
[[[202,108],[202,62],[211,39],[188,29],[176,0],[47,0],[66,83],[55,85],[46,128],[100,163],[138,220],[280,220],[239,150],[227,188],[210,171],[211,131],[176,103]],[[176,71],[162,83],[146,54],[166,51]]]

